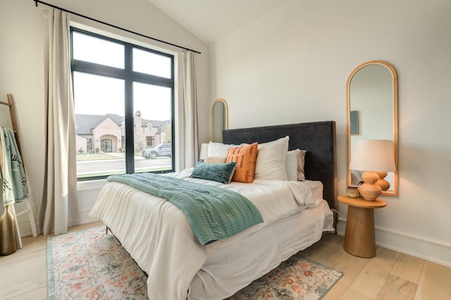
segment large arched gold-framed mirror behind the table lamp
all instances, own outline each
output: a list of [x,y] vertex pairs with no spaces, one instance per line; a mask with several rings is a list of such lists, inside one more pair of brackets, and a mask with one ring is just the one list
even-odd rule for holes
[[354,142],[358,139],[393,141],[396,171],[385,177],[390,187],[385,196],[397,196],[397,75],[385,61],[369,61],[355,68],[347,79],[347,178],[357,185],[362,173],[350,170]]

